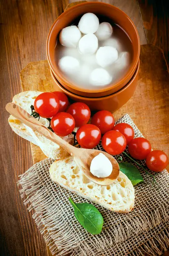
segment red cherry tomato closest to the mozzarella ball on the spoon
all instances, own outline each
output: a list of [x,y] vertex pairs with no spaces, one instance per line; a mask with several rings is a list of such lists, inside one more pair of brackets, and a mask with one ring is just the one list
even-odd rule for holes
[[104,150],[112,155],[121,154],[126,148],[126,138],[119,131],[108,131],[101,140]]

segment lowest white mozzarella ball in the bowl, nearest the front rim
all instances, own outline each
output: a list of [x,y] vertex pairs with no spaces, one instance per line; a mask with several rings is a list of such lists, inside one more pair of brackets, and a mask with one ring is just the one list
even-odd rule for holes
[[109,84],[111,81],[112,76],[110,76],[109,73],[103,68],[96,68],[92,71],[89,77],[90,84],[95,86],[103,86]]

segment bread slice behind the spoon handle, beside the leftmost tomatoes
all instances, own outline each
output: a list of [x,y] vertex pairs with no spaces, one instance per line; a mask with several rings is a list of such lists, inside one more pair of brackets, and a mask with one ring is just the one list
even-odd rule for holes
[[[19,105],[28,113],[31,113],[31,105],[34,105],[34,100],[36,97],[42,92],[39,91],[25,91],[19,93],[14,96],[13,101],[15,104]],[[49,126],[49,121],[45,118],[40,117],[39,121],[43,123],[46,127]],[[22,122],[14,118],[14,116],[9,116],[8,119],[9,125],[11,126],[12,130],[23,137],[26,140],[34,143],[35,145],[39,146],[43,153],[47,157],[51,157],[52,159],[60,159],[67,157],[69,153],[64,150],[64,148],[60,147],[56,143],[48,140],[46,137],[40,135],[36,131],[33,131],[28,126],[24,125]],[[63,140],[66,140],[69,143],[72,143],[73,135],[70,134],[69,136],[62,137]]]

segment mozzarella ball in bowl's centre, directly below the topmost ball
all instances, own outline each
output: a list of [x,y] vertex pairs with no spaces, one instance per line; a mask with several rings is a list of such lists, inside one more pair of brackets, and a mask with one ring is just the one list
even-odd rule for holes
[[98,39],[94,34],[84,35],[78,44],[79,52],[82,54],[93,54],[97,51]]

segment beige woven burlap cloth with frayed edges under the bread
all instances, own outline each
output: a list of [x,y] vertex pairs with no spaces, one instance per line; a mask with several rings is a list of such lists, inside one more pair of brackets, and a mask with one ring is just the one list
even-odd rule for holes
[[[132,125],[135,137],[142,134],[128,114],[117,121]],[[101,145],[99,149],[103,149]],[[123,161],[130,162],[123,157]],[[20,176],[21,197],[32,211],[40,232],[53,255],[71,256],[120,256],[120,255],[161,255],[169,247],[169,175],[164,170],[156,175],[159,184],[135,186],[135,208],[128,214],[111,212],[52,182],[49,167],[52,159],[46,159],[32,166]],[[144,161],[142,161],[145,164]],[[140,168],[139,168],[140,169]],[[146,175],[140,169],[144,180]],[[77,221],[68,201],[89,202],[101,212],[104,219],[99,235],[91,235]]]

